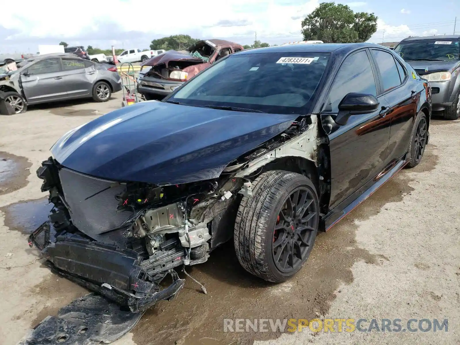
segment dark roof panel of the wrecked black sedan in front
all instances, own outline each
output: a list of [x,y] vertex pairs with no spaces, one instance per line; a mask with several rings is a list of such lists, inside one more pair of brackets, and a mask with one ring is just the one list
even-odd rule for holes
[[305,43],[305,44],[288,44],[282,46],[272,46],[266,48],[246,49],[236,54],[253,54],[253,53],[289,53],[289,52],[321,52],[332,53],[339,51],[346,54],[360,48],[385,48],[384,46],[374,43]]

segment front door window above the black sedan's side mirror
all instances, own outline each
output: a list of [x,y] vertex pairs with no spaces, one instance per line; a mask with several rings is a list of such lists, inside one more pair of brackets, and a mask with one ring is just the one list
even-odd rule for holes
[[339,72],[335,76],[323,111],[338,113],[340,101],[350,92],[377,96],[374,71],[365,51],[357,52],[347,57],[342,63]]

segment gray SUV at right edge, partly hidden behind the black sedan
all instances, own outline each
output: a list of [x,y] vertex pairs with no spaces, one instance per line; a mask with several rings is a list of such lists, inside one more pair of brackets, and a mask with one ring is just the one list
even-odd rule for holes
[[431,84],[433,111],[445,119],[460,116],[460,35],[408,37],[395,47],[403,59]]

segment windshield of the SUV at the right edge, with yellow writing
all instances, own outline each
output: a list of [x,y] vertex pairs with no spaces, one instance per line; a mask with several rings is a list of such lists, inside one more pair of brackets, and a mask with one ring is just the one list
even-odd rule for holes
[[401,42],[395,52],[406,61],[455,61],[459,60],[458,40],[416,40]]

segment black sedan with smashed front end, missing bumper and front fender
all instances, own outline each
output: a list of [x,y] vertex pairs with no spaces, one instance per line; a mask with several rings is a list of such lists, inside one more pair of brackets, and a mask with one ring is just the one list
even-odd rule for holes
[[248,272],[283,282],[318,231],[420,163],[430,118],[428,82],[383,46],[238,52],[60,138],[37,171],[54,207],[29,242],[133,312],[232,239]]

